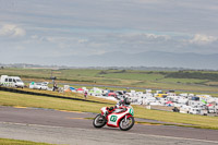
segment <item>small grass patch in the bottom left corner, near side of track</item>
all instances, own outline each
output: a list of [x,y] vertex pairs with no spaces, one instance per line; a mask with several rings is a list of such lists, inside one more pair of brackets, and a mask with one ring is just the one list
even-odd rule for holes
[[51,145],[51,144],[36,143],[36,142],[21,141],[21,140],[0,138],[0,145]]

